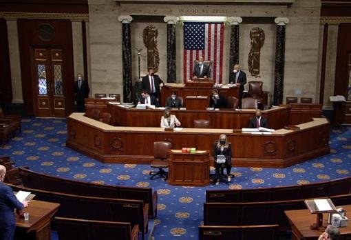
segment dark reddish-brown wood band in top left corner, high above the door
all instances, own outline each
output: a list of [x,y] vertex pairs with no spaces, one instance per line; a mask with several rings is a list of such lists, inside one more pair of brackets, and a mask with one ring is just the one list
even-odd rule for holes
[[88,13],[87,0],[0,0],[3,12]]

